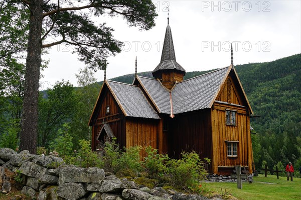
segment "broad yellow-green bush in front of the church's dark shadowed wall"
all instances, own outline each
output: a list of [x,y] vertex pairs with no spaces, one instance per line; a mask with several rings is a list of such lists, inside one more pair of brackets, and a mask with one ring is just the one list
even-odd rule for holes
[[180,189],[196,190],[199,187],[199,181],[205,179],[207,175],[206,162],[201,161],[199,155],[195,152],[183,152],[179,160],[171,159],[167,161],[169,183]]

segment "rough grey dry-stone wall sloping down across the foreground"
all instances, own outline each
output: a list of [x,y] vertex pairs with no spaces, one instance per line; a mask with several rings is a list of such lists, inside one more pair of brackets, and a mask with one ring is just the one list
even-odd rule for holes
[[22,193],[37,200],[208,199],[161,187],[150,189],[97,167],[66,165],[60,157],[33,155],[29,151],[17,153],[9,148],[0,149],[0,192],[10,192],[7,170],[21,172]]

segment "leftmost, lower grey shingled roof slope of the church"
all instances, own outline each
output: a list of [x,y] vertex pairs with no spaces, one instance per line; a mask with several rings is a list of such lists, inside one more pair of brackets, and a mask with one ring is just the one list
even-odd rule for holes
[[109,80],[107,84],[125,116],[160,119],[139,87]]

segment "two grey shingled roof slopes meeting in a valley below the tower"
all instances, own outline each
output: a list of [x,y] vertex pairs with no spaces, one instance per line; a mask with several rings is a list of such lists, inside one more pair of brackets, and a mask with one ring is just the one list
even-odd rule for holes
[[[180,83],[173,90],[168,91],[159,80],[138,76],[142,88],[155,102],[159,112],[165,114],[179,114],[194,110],[210,108],[221,88],[230,67],[222,68],[203,74]],[[172,99],[170,98],[170,93]],[[171,102],[173,113],[171,111]]]

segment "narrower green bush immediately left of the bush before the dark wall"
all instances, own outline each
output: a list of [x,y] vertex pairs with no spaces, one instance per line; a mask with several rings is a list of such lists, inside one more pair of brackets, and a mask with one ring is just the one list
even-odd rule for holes
[[158,150],[152,146],[145,147],[147,156],[144,158],[143,166],[148,178],[162,180],[167,170],[166,162],[169,160],[168,155],[158,154]]

